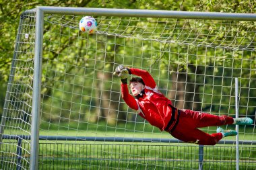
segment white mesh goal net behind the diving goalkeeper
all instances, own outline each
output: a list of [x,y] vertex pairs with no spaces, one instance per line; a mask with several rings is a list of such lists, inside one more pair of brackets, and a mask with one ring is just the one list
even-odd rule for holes
[[[113,71],[117,65],[144,69],[175,107],[232,117],[237,77],[239,117],[254,120],[255,21],[239,15],[200,19],[205,18],[202,13],[186,19],[154,15],[156,11],[148,17],[106,11],[90,13],[98,22],[90,35],[78,28],[87,13],[44,13],[38,65],[36,13],[22,15],[1,116],[0,169],[30,167],[37,88],[39,169],[234,169],[235,137],[205,146],[202,161],[197,145],[160,132],[127,107]],[[38,67],[41,83],[33,87]],[[201,129],[216,132],[216,127]],[[240,126],[238,132],[241,169],[253,169],[255,124]]]

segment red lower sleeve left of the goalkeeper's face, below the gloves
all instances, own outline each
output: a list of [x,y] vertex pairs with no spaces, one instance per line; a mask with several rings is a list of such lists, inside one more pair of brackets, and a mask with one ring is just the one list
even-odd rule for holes
[[130,95],[130,93],[128,91],[127,84],[123,84],[123,83],[121,84],[121,93],[122,93],[123,100],[125,101],[125,103],[127,103],[127,105],[131,109],[139,110],[136,100],[134,99],[134,97],[132,95]]

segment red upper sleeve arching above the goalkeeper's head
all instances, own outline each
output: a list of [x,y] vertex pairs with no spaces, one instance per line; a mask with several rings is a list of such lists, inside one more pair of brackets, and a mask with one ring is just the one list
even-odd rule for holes
[[151,87],[154,89],[156,87],[156,82],[154,81],[153,77],[148,73],[148,71],[144,71],[141,69],[130,69],[131,74],[137,75],[143,79],[143,82],[145,83],[146,86]]

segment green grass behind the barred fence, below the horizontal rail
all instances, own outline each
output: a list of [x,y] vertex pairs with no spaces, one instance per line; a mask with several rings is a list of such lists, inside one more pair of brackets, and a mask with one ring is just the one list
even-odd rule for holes
[[[39,166],[40,169],[198,169],[198,147],[195,144],[134,142],[40,142]],[[29,149],[26,144],[23,148]],[[235,146],[205,146],[203,169],[235,169],[235,155]],[[7,162],[10,155],[7,153],[4,156],[4,161]],[[23,156],[24,159],[29,159],[28,155]],[[15,155],[13,157],[11,161],[15,162]],[[256,147],[241,147],[240,159],[240,169],[255,168]]]

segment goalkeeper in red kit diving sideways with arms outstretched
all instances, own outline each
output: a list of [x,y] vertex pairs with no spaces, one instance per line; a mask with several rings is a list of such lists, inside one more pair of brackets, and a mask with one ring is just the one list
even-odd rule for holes
[[[131,93],[127,87],[129,75],[137,75],[129,81]],[[195,144],[214,145],[226,136],[235,136],[235,130],[217,128],[214,134],[207,134],[198,128],[206,126],[222,126],[225,124],[250,125],[251,118],[232,118],[229,116],[215,116],[192,110],[178,110],[172,106],[156,87],[156,82],[148,73],[141,69],[127,68],[119,65],[114,75],[121,78],[121,93],[129,108],[136,110],[139,116],[148,120],[152,126],[169,132],[174,138]]]

